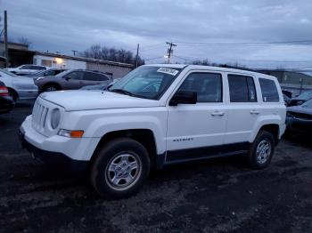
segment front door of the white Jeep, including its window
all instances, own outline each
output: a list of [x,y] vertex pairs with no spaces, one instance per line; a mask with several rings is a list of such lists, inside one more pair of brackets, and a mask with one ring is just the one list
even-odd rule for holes
[[168,106],[167,162],[221,151],[227,114],[223,78],[221,73],[208,72],[193,72],[185,78],[178,91],[197,92],[197,103]]

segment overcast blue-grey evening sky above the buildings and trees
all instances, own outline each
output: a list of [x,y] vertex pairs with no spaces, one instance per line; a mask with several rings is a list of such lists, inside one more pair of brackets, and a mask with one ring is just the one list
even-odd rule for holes
[[39,51],[102,44],[135,52],[139,43],[140,55],[155,63],[172,41],[173,62],[312,67],[311,0],[0,0],[0,9],[8,11],[9,38],[27,37]]

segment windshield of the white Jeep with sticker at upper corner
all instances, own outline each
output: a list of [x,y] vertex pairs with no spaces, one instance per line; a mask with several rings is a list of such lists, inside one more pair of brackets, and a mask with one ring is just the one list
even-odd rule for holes
[[144,66],[135,68],[109,91],[120,92],[136,97],[159,100],[168,87],[176,79],[181,68],[160,68]]

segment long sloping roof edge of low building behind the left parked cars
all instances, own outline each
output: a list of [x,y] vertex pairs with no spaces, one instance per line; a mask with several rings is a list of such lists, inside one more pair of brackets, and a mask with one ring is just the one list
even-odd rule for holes
[[39,51],[33,51],[33,52],[35,52],[36,55],[42,55],[42,56],[47,56],[47,57],[56,57],[56,58],[63,58],[63,59],[69,59],[69,60],[80,60],[80,61],[86,61],[86,62],[94,62],[98,64],[111,65],[111,66],[134,68],[134,65],[132,64],[116,62],[116,61],[111,61],[111,60],[84,58],[84,57],[70,56],[70,55],[64,55],[64,54],[52,53],[52,52],[39,52]]

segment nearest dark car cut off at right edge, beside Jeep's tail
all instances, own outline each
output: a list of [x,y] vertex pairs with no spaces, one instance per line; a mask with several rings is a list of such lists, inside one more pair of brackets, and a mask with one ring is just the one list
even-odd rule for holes
[[287,108],[287,132],[312,133],[312,99]]

